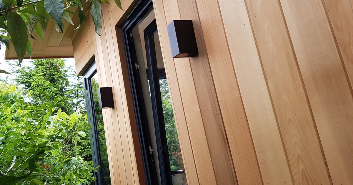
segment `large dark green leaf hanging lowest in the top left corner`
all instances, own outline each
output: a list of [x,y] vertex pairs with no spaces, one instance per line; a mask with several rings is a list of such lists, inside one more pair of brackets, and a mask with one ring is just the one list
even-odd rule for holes
[[26,23],[17,13],[8,12],[7,15],[8,33],[11,36],[13,47],[16,51],[18,64],[21,65],[26,53],[28,36]]

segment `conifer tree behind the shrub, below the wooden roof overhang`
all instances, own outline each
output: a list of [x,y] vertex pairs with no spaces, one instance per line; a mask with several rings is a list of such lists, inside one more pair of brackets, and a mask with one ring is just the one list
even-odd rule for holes
[[[30,94],[32,103],[56,100],[57,109],[68,114],[84,113],[83,83],[74,71],[65,67],[65,59],[35,59],[32,63],[33,67],[13,71],[14,81]],[[53,86],[57,88],[49,94],[43,93]]]

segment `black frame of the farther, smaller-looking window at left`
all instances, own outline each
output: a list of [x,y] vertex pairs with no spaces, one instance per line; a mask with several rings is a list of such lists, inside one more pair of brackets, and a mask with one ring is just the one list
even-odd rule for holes
[[[86,99],[86,109],[88,122],[91,125],[89,130],[91,151],[92,151],[92,161],[94,167],[97,168],[101,166],[101,152],[99,147],[99,138],[97,130],[97,118],[95,112],[95,105],[93,99],[92,83],[91,78],[97,73],[96,63],[93,61],[90,67],[83,74],[83,85]],[[97,168],[97,172],[93,172],[95,180],[95,185],[103,185],[103,174],[101,168]]]

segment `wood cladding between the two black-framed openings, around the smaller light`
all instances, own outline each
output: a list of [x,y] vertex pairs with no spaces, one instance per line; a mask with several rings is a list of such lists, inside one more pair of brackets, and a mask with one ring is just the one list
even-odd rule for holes
[[[137,0],[122,0],[124,10],[131,10]],[[134,116],[130,82],[127,74],[122,34],[115,20],[125,20],[128,12],[102,3],[101,36],[94,31],[89,11],[85,22],[74,35],[73,49],[77,75],[82,75],[95,59],[100,87],[113,87],[114,108],[103,109],[110,178],[112,184],[143,185],[142,156]],[[117,6],[116,6],[117,7]],[[113,14],[117,16],[113,16]],[[114,17],[114,18],[113,18]],[[118,43],[121,45],[118,46]]]

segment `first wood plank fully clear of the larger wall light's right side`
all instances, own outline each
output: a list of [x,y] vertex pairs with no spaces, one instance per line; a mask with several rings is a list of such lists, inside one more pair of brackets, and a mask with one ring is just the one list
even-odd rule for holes
[[218,2],[197,0],[196,4],[238,183],[261,184],[257,157],[232,67]]

